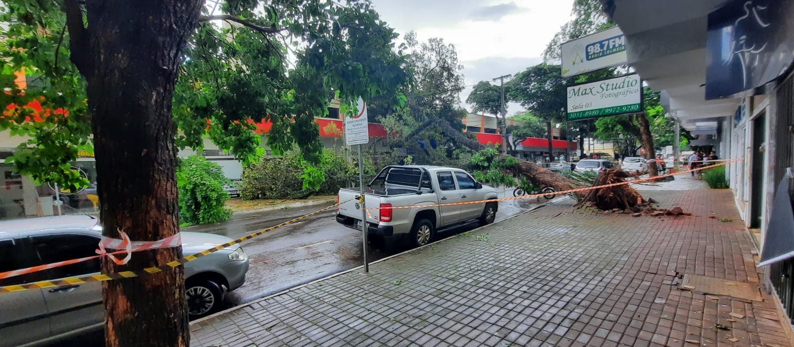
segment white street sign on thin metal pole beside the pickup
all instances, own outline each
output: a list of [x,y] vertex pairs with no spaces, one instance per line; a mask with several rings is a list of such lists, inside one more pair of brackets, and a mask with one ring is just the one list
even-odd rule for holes
[[364,196],[364,157],[361,145],[369,143],[369,126],[367,121],[367,104],[358,98],[358,112],[345,115],[345,143],[348,146],[358,145],[358,185],[360,197],[358,206],[361,209],[361,242],[364,246],[364,273],[369,273],[367,261],[367,204]]

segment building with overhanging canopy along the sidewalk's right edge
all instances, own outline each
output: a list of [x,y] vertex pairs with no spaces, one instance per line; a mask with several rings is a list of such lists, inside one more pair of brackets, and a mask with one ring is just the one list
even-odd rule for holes
[[[754,240],[761,246],[781,232],[790,241],[794,231],[769,223],[783,218],[773,216],[773,201],[794,166],[794,3],[600,2],[626,36],[629,66],[696,136],[693,149],[734,160],[726,167],[727,181],[750,235],[760,235]],[[791,322],[794,261],[782,258],[763,270],[765,288]]]

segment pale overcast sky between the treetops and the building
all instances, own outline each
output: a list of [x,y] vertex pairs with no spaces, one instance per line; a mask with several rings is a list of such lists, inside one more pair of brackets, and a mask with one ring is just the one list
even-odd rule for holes
[[[457,48],[466,85],[542,62],[549,40],[571,18],[572,0],[372,0],[401,34],[441,37]],[[472,90],[461,93],[461,104]],[[468,105],[464,105],[468,108]],[[511,104],[507,114],[521,111]]]

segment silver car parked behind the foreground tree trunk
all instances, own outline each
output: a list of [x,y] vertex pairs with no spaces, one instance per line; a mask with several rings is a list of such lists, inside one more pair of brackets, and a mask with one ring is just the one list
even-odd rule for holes
[[[101,235],[99,220],[91,215],[2,221],[0,273],[96,255]],[[221,235],[183,232],[182,250],[183,254],[195,254],[229,241],[231,238]],[[224,290],[239,288],[248,269],[248,256],[239,245],[185,263],[191,318],[217,309]],[[0,286],[99,272],[97,258],[6,278],[0,280]],[[104,315],[101,282],[0,293],[0,346],[39,345],[99,330],[104,326]]]

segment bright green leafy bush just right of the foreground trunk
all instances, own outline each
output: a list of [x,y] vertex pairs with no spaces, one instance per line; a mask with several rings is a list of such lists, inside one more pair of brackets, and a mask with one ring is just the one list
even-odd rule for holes
[[224,204],[229,194],[223,190],[223,185],[231,181],[223,175],[221,166],[193,155],[180,163],[177,177],[181,223],[218,223],[232,215]]

